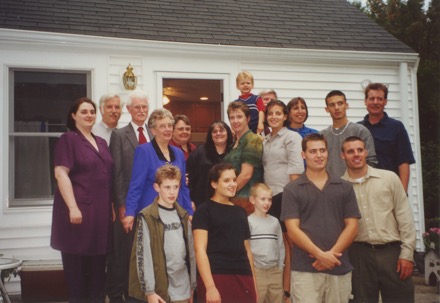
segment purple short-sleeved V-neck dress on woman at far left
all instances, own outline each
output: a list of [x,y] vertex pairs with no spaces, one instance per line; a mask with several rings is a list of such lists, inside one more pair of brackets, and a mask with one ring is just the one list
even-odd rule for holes
[[107,143],[95,137],[99,151],[79,131],[63,134],[55,146],[54,166],[70,169],[81,224],[71,224],[57,188],[53,203],[51,246],[63,253],[104,255],[113,247],[111,182],[113,160]]

